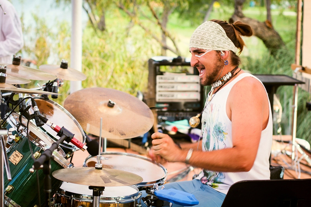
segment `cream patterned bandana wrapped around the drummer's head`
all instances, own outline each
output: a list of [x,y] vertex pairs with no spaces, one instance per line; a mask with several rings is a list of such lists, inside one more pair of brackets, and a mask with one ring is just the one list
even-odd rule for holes
[[189,48],[203,50],[221,50],[238,52],[233,42],[227,37],[225,30],[216,22],[206,21],[194,30]]

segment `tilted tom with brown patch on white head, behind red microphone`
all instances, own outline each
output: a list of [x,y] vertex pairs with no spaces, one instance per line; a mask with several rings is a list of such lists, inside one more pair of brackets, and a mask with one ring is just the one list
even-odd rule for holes
[[[74,137],[81,143],[85,143],[86,136],[78,121],[61,105],[52,100],[46,100],[43,97],[34,97],[38,105],[40,113],[52,123],[62,127],[64,126],[71,133],[74,133]],[[27,101],[27,106],[31,105],[31,100]],[[32,108],[30,108],[33,110]],[[31,111],[33,113],[33,111]],[[46,132],[55,141],[59,139],[57,132],[51,129],[49,126],[44,124],[42,130]],[[79,150],[78,147],[72,143],[63,142],[60,144],[62,149],[65,151],[67,158],[69,158],[73,152]]]

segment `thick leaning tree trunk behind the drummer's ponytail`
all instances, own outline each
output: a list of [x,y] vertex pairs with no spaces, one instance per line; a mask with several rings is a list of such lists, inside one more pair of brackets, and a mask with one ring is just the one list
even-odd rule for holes
[[258,20],[244,17],[242,13],[242,5],[244,2],[245,0],[234,1],[234,14],[229,22],[241,21],[248,24],[253,29],[253,35],[261,39],[265,46],[271,50],[271,54],[276,56],[276,52],[279,49],[285,48],[285,43],[281,36],[267,23],[267,21],[260,22]]

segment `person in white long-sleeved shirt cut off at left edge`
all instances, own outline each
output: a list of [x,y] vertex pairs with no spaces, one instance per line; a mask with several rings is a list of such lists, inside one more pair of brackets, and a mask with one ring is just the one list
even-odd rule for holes
[[0,63],[12,64],[13,55],[24,46],[21,20],[11,2],[0,0],[0,4]]

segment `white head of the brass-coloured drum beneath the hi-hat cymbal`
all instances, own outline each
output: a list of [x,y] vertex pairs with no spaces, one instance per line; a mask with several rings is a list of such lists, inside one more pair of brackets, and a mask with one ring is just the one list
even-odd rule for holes
[[[60,189],[66,191],[68,195],[70,192],[72,194],[79,194],[84,196],[92,196],[93,191],[89,189],[86,185],[79,185],[70,182],[63,182]],[[116,197],[128,197],[133,196],[138,192],[138,189],[134,186],[119,186],[119,187],[105,187],[103,195],[100,197],[105,198],[116,198]],[[75,196],[74,196],[75,197]],[[80,196],[77,196],[80,197]]]

